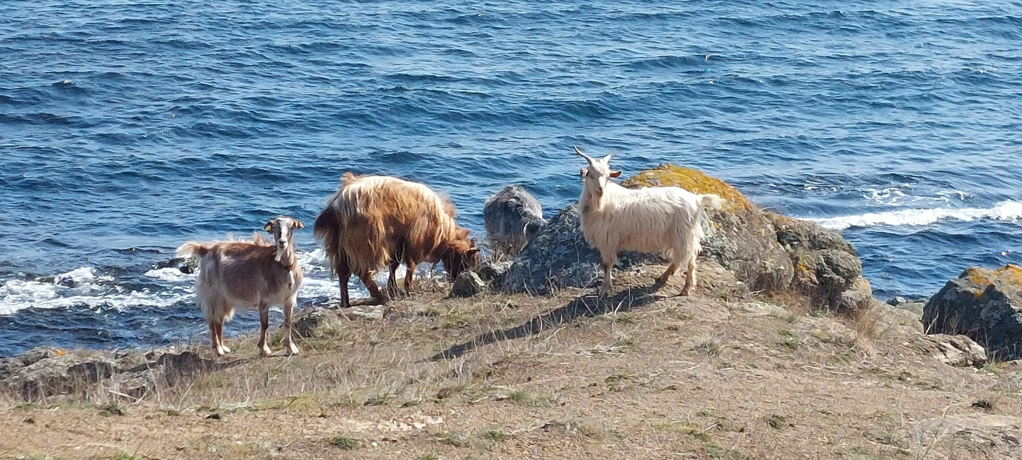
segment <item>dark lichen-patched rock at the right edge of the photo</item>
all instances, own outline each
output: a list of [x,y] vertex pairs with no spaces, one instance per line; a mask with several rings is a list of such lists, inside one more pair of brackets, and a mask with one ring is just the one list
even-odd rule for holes
[[970,267],[923,307],[927,334],[966,335],[990,359],[1022,358],[1022,267]]

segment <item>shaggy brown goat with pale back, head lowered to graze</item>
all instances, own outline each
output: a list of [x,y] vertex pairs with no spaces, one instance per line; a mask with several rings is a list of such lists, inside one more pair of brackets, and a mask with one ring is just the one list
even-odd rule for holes
[[388,265],[387,287],[397,292],[394,272],[408,266],[406,293],[415,265],[444,262],[450,279],[478,263],[478,248],[455,222],[451,203],[428,187],[385,175],[345,172],[340,188],[316,218],[313,232],[323,241],[331,271],[340,282],[341,307],[351,307],[347,278],[359,276],[377,303],[386,299],[373,274]]

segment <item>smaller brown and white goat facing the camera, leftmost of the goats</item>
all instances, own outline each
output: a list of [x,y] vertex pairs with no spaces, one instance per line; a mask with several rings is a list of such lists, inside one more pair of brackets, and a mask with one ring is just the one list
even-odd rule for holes
[[210,324],[217,356],[231,352],[224,345],[224,323],[234,317],[237,308],[259,309],[259,349],[263,356],[273,354],[266,331],[274,305],[284,309],[284,354],[298,354],[298,347],[291,342],[291,313],[301,285],[301,266],[294,256],[293,232],[303,226],[299,220],[277,217],[265,227],[273,234],[273,243],[257,234],[250,242],[189,242],[178,248],[178,257],[199,259],[195,302]]

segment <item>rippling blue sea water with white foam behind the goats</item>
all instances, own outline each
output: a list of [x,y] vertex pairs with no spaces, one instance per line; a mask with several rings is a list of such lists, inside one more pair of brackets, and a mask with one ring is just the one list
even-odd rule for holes
[[[478,235],[506,184],[552,215],[572,145],[706,170],[842,229],[878,297],[928,295],[1020,262],[1020,133],[1018,1],[5,0],[0,356],[204,341],[153,264],[311,223],[345,170]],[[297,244],[305,302],[336,298]]]

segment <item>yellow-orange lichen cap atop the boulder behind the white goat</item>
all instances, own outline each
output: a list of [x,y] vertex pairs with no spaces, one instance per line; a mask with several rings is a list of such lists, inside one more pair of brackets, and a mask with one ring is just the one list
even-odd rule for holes
[[755,207],[749,200],[745,199],[738,189],[731,187],[728,183],[700,170],[675,166],[673,164],[661,164],[653,169],[641,171],[622,182],[621,186],[630,189],[673,186],[692,193],[716,194],[725,200],[723,209],[729,212]]

